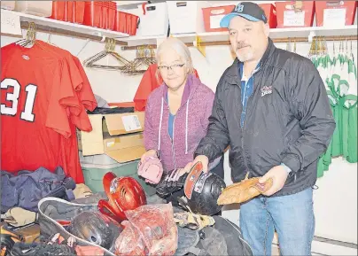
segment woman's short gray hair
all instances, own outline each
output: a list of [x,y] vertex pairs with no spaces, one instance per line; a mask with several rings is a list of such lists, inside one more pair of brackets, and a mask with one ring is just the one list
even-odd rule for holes
[[[167,50],[173,49],[176,53],[183,59],[185,62],[185,66],[188,68],[190,74],[194,74],[194,67],[192,66],[191,60],[191,51],[188,47],[183,43],[181,40],[175,37],[167,38],[163,43],[160,43],[160,46],[157,49],[156,60],[158,66],[160,65],[160,54]],[[158,71],[157,71],[157,78],[158,78]]]

